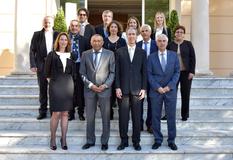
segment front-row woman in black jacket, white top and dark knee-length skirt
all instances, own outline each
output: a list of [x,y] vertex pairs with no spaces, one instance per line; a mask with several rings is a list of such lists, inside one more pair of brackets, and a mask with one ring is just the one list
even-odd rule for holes
[[66,133],[68,130],[68,111],[73,106],[75,73],[74,61],[70,53],[71,42],[67,33],[58,35],[54,51],[50,52],[45,62],[45,74],[49,81],[49,103],[52,112],[50,120],[50,149],[56,150],[56,130],[61,119],[61,147],[67,150]]

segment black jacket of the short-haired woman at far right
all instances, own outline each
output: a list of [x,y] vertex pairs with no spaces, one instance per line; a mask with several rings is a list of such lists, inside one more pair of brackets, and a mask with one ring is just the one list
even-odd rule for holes
[[[171,42],[167,48],[177,52],[178,45],[175,42]],[[195,74],[196,56],[193,45],[190,41],[184,40],[183,43],[180,44],[180,54],[186,71]]]

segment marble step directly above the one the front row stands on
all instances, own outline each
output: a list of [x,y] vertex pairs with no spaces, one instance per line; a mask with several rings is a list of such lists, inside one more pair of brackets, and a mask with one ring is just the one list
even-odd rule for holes
[[[164,141],[163,145],[167,145],[167,130],[163,130]],[[101,130],[96,131],[96,144],[100,145]],[[129,142],[132,139],[132,132],[129,131]],[[61,134],[57,132],[57,144],[59,144]],[[233,130],[177,130],[176,144],[177,145],[232,145]],[[0,131],[0,146],[25,146],[25,145],[49,145],[50,132],[49,131]],[[67,143],[70,146],[80,145],[86,143],[85,131],[68,131]],[[118,131],[111,131],[109,138],[109,145],[120,144],[120,135]],[[152,134],[141,132],[142,146],[152,145],[154,143],[154,136]]]

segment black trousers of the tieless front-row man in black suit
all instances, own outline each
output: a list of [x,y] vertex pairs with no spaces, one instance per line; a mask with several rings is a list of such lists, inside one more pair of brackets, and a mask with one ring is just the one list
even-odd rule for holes
[[140,142],[141,130],[141,100],[138,100],[136,95],[123,95],[122,99],[118,99],[119,103],[119,131],[122,143],[128,143],[128,126],[129,126],[129,112],[131,109],[131,117],[133,123],[132,142]]

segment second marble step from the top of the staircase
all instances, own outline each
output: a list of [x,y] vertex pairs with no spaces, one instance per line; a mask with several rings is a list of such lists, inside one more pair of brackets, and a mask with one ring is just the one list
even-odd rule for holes
[[[38,95],[38,85],[0,85],[0,95]],[[233,96],[233,87],[193,87],[192,96]],[[178,97],[180,91],[178,90]]]

